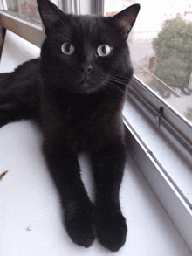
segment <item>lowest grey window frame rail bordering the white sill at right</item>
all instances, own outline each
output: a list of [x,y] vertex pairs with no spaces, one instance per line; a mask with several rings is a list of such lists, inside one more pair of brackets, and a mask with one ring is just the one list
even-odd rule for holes
[[[192,252],[192,207],[191,202],[176,185],[168,170],[165,170],[151,149],[143,142],[140,135],[124,116],[126,129],[127,153],[141,171],[148,185],[167,212],[168,217],[180,232],[182,239]],[[142,125],[142,122],[141,122]]]

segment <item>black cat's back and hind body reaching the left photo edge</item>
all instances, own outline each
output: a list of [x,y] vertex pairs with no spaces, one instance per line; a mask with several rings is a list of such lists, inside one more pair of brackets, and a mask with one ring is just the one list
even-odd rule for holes
[[[22,118],[39,115],[42,86],[40,59],[31,59],[11,73],[0,73],[0,107],[2,111],[16,111]],[[17,117],[17,119],[19,119]]]

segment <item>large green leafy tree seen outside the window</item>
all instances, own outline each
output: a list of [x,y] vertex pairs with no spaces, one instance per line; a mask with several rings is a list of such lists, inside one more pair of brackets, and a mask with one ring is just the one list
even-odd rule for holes
[[[168,86],[188,86],[192,72],[192,24],[181,17],[167,20],[157,38],[153,40],[157,57],[154,74]],[[151,86],[161,88],[159,80],[152,80]]]

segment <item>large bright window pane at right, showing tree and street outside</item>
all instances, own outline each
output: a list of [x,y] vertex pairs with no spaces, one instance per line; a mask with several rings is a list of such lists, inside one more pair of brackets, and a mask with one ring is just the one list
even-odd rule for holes
[[[106,0],[110,16],[134,0]],[[191,0],[139,0],[128,38],[134,75],[192,123]]]

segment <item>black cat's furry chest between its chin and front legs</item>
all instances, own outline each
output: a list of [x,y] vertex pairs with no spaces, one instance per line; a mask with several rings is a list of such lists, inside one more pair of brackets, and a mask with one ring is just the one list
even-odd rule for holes
[[113,104],[111,100],[95,101],[65,99],[58,104],[45,98],[42,104],[45,132],[70,142],[75,150],[95,149],[106,143],[115,133],[120,106],[114,100]]

